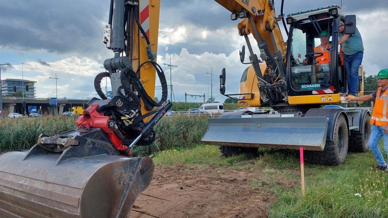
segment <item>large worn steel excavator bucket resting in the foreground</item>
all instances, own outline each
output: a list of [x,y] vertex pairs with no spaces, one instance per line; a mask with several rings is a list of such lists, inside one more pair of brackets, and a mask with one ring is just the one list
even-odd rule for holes
[[129,217],[154,172],[150,157],[98,154],[58,162],[60,154],[27,153],[0,154],[2,218]]

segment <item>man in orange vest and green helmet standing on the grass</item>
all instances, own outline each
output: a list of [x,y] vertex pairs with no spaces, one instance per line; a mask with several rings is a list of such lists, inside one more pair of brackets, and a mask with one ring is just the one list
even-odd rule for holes
[[383,148],[388,155],[388,69],[383,69],[377,74],[378,88],[375,92],[369,95],[360,97],[348,96],[346,101],[366,101],[375,99],[372,117],[370,118],[371,133],[368,141],[368,146],[376,159],[378,166],[377,170],[386,170],[386,162],[378,148],[378,141],[383,137]]

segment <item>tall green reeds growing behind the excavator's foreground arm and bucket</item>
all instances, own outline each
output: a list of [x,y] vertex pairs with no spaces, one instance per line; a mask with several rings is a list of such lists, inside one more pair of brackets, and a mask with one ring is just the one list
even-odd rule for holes
[[[0,152],[29,149],[40,134],[55,135],[76,128],[75,117],[42,117],[0,120]],[[164,117],[155,126],[156,140],[150,146],[135,147],[134,155],[146,156],[176,147],[201,143],[208,117]]]

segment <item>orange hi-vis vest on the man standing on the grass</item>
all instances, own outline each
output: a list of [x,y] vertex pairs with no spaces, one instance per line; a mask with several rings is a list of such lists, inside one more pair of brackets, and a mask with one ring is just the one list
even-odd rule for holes
[[374,102],[372,117],[370,118],[370,124],[376,126],[388,125],[388,89],[381,93],[381,87],[377,89],[376,100]]

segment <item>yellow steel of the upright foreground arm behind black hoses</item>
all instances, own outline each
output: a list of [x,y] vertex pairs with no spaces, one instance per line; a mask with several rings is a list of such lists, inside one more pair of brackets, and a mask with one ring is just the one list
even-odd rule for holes
[[[160,0],[140,0],[149,2],[149,10],[150,10],[150,42],[151,47],[155,53],[158,51],[158,34],[159,34],[159,14],[160,14]],[[136,23],[134,22],[134,26]],[[145,30],[147,31],[147,30]],[[133,31],[133,50],[132,50],[132,66],[133,70],[136,71],[139,67],[139,63],[143,63],[148,61],[147,56],[147,42],[146,39],[141,37],[137,28],[134,28]],[[140,46],[138,46],[140,45]],[[140,57],[138,52],[140,51]],[[151,64],[145,64],[140,69],[140,75],[138,75],[144,89],[148,93],[148,95],[154,99],[155,98],[155,80],[156,80],[156,70]],[[141,99],[141,114],[146,114],[149,111],[144,107],[144,102]],[[144,122],[148,122],[151,119],[151,116],[144,119]]]

